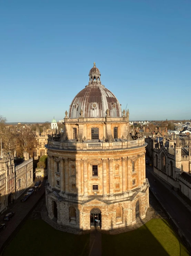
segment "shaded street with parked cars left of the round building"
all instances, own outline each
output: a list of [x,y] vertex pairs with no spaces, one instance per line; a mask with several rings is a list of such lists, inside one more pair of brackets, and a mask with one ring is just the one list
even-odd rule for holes
[[[36,181],[38,181],[38,179],[36,179],[35,182]],[[29,188],[33,188],[34,183]],[[26,191],[23,192],[23,194],[14,202],[14,204],[8,206],[8,209],[1,214],[0,223],[5,223],[6,228],[0,233],[0,252],[3,248],[3,244],[10,241],[12,235],[17,231],[18,228],[20,228],[23,220],[27,217],[27,214],[33,209],[35,204],[45,193],[45,184],[46,180],[43,180],[41,185],[41,191],[38,191],[36,194],[33,193],[26,202],[20,201],[21,197],[26,193]],[[15,215],[10,221],[4,221],[4,215],[9,212],[15,212]]]

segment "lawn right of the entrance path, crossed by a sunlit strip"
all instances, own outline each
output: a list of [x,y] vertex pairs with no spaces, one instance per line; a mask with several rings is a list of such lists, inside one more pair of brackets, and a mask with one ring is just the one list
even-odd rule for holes
[[189,253],[166,220],[152,219],[130,232],[102,234],[102,255],[184,256]]

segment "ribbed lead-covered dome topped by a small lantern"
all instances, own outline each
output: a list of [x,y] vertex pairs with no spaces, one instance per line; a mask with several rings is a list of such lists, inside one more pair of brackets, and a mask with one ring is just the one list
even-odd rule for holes
[[89,84],[72,100],[69,118],[78,118],[81,109],[83,117],[105,117],[107,109],[111,117],[122,116],[118,99],[101,84],[100,76],[100,71],[94,62],[89,72]]

